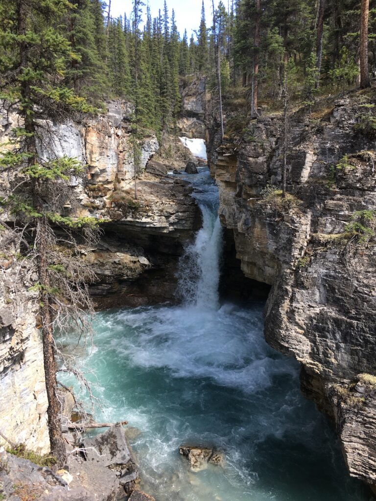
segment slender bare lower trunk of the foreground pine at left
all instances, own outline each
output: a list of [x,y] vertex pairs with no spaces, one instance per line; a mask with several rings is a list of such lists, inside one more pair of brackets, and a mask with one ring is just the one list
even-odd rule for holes
[[40,317],[42,324],[43,359],[48,399],[47,416],[51,452],[57,458],[58,465],[63,466],[66,460],[66,449],[60,423],[61,405],[57,396],[55,341],[48,292],[50,282],[47,271],[47,225],[48,223],[45,218],[40,218],[37,222],[37,268],[39,283],[41,285],[39,293]]

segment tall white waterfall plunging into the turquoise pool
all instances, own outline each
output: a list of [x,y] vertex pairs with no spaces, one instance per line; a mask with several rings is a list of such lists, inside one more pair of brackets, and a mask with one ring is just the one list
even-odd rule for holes
[[218,309],[220,265],[223,247],[222,227],[218,217],[218,188],[207,176],[196,182],[193,193],[203,225],[195,241],[187,245],[179,263],[178,295],[186,305],[200,309]]

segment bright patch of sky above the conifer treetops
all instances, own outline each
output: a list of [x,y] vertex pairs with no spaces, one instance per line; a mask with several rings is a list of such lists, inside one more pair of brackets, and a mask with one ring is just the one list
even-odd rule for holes
[[[145,4],[147,4],[147,0],[143,0]],[[163,10],[164,0],[149,0],[149,6],[151,9],[152,17],[156,17],[158,15],[158,10]],[[225,1],[225,4],[227,2]],[[212,18],[212,2],[211,0],[204,0],[205,4],[205,13],[207,19],[207,26],[211,26],[211,18]],[[177,29],[182,36],[184,33],[184,28],[188,33],[188,37],[191,37],[192,30],[197,30],[200,25],[201,19],[201,5],[202,0],[167,0],[167,7],[169,15],[171,16],[172,9],[175,11],[176,15],[176,24]],[[214,5],[217,7],[218,0],[215,0]],[[144,12],[146,12],[146,7],[143,8]],[[130,15],[132,11],[132,2],[131,0],[111,0],[111,15],[112,17],[117,17],[120,15],[124,15],[124,12],[127,16]],[[144,16],[145,19],[145,16]]]

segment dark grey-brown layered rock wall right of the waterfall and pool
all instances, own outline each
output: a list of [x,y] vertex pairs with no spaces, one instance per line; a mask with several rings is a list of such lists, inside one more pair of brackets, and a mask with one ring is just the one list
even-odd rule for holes
[[211,169],[244,274],[272,285],[267,341],[301,362],[302,390],[335,419],[350,474],[374,484],[376,398],[355,383],[376,373],[376,250],[346,234],[357,211],[372,226],[376,210],[374,142],[352,128],[360,99],[314,122],[292,117],[285,200],[278,116],[250,124],[241,146],[222,144]]

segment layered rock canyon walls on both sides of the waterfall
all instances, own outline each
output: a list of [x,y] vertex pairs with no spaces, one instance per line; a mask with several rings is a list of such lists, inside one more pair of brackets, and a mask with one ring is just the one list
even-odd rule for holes
[[[335,422],[349,473],[374,488],[376,252],[346,239],[356,212],[376,210],[374,139],[353,128],[372,98],[328,98],[311,115],[292,115],[289,194],[282,200],[275,189],[282,178],[281,114],[265,113],[222,140],[205,79],[181,93],[180,133],[206,139],[219,188],[229,249],[224,276],[242,276],[238,286],[256,295],[271,288],[265,339],[301,364],[302,392]],[[85,179],[72,179],[79,203],[67,213],[109,219],[97,247],[82,253],[97,276],[89,288],[98,309],[176,303],[178,263],[202,223],[190,183],[166,177],[189,152],[179,146],[177,163],[160,158],[152,134],[143,143],[134,203],[130,114],[129,104],[109,102],[99,117],[51,124],[52,137],[40,146],[46,155],[87,165]],[[3,117],[3,140],[15,119]],[[23,266],[1,257],[7,286],[0,298],[0,422],[6,436],[43,453],[47,397],[32,277],[23,286],[14,280]]]

